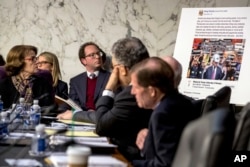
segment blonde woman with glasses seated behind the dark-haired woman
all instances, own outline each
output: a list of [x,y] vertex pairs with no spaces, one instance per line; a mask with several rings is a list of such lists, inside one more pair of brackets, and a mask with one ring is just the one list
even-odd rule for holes
[[61,80],[62,76],[57,56],[51,52],[42,52],[38,56],[36,64],[38,69],[51,72],[55,94],[67,99],[68,84]]

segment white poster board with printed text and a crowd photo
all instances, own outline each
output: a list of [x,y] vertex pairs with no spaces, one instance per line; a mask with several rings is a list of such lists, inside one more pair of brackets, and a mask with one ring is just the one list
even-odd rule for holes
[[250,102],[249,13],[249,7],[182,9],[174,51],[183,66],[181,93],[203,99],[229,86],[231,104]]

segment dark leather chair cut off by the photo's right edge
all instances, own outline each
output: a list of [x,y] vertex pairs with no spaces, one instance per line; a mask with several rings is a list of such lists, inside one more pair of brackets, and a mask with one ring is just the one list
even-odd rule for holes
[[239,112],[234,134],[233,150],[250,151],[250,103]]

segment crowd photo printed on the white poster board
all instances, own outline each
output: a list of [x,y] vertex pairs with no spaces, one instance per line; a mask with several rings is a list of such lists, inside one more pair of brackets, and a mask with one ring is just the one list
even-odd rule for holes
[[237,81],[245,39],[195,38],[187,78]]

